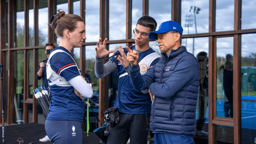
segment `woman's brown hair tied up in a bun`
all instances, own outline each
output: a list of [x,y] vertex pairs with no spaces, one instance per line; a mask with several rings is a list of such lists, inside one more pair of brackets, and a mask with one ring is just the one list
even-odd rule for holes
[[[75,14],[66,14],[65,11],[62,11],[62,9],[57,10],[59,13],[57,13],[53,19],[52,24],[50,26],[53,28],[55,33],[63,37],[64,30],[74,31],[77,27],[77,22],[82,21],[82,18],[79,15]],[[52,20],[52,18],[51,18]]]

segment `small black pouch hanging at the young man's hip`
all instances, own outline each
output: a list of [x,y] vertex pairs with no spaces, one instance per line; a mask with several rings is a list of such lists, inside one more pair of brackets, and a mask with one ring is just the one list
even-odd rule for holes
[[119,110],[117,107],[107,108],[107,110],[103,111],[104,113],[104,120],[107,123],[107,126],[116,126],[119,123]]

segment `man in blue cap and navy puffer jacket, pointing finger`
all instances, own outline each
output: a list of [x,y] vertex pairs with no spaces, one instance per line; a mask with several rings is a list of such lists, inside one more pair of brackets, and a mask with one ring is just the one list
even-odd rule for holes
[[149,33],[149,39],[159,43],[162,57],[144,75],[137,65],[139,53],[127,48],[133,86],[149,88],[154,96],[150,127],[156,144],[194,143],[200,71],[196,57],[181,46],[182,33],[175,21],[165,21]]

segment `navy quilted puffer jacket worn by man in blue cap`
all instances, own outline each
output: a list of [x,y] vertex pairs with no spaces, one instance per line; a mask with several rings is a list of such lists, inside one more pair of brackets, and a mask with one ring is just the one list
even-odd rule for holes
[[162,55],[145,75],[139,67],[130,67],[130,78],[136,89],[149,88],[154,95],[151,131],[181,136],[194,136],[200,71],[196,57],[184,46]]

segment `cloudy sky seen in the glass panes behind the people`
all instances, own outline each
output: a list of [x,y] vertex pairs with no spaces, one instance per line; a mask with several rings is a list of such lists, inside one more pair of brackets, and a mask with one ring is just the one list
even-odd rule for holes
[[[100,0],[85,1],[85,35],[86,42],[98,41],[100,37]],[[79,14],[80,2],[74,2],[74,14]],[[256,1],[242,1],[242,29],[256,28]],[[196,12],[194,8],[196,7]],[[57,5],[57,9],[63,9],[68,12],[68,4]],[[136,27],[137,20],[142,17],[142,1],[133,1],[132,4],[132,29]],[[200,10],[198,9],[200,8]],[[39,29],[47,37],[47,9],[39,9]],[[109,40],[123,40],[126,33],[126,1],[110,0],[110,37]],[[199,10],[199,11],[198,11]],[[234,21],[234,1],[217,0],[216,1],[216,31],[233,30]],[[171,20],[171,2],[165,0],[149,1],[149,16],[155,18],[159,25]],[[188,17],[190,16],[190,17]],[[196,19],[195,19],[196,16]],[[190,22],[186,21],[190,20]],[[195,24],[196,20],[196,24]],[[24,24],[24,12],[17,13],[17,22]],[[33,25],[33,10],[30,10],[30,23]],[[186,27],[189,24],[190,27]],[[206,0],[183,0],[181,1],[181,26],[183,34],[208,33],[209,31],[209,1]],[[158,28],[157,28],[158,29]],[[134,38],[132,34],[132,38]],[[242,35],[242,56],[248,56],[256,52],[255,47],[256,34]],[[47,42],[47,41],[46,41]],[[57,40],[59,43],[59,39]],[[204,51],[209,53],[208,38],[194,39],[194,55]],[[116,49],[120,44],[111,44],[110,49]],[[157,49],[157,43],[151,42],[151,46]],[[183,39],[182,45],[187,46],[188,52],[193,53],[193,39]],[[125,46],[125,44],[121,44]],[[95,46],[87,47],[87,58],[95,57]],[[79,53],[76,52],[75,53]],[[217,39],[217,56],[225,56],[231,53],[233,55],[233,38]]]

